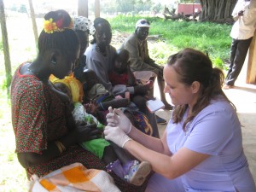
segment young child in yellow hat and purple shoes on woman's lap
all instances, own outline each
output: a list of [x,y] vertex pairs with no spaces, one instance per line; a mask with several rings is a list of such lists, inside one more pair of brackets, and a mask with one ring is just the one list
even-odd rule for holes
[[[77,97],[77,90],[79,90],[79,81],[73,80],[72,77],[66,77],[65,79],[58,79],[53,81],[55,88],[61,90],[61,92],[67,94],[66,101],[72,101],[72,97]],[[63,100],[63,95],[60,94]],[[66,102],[68,103],[68,102]],[[69,104],[67,104],[70,106]],[[92,129],[103,130],[103,125],[86,110],[81,102],[73,102],[73,122],[69,122],[69,125],[73,123],[79,124],[90,124]],[[69,119],[72,121],[72,119]],[[93,126],[96,125],[96,126]],[[148,174],[151,172],[151,166],[148,162],[143,161],[139,163],[137,160],[132,160],[123,148],[119,148],[113,143],[108,143],[105,139],[96,138],[88,142],[80,143],[80,145],[89,150],[101,158],[108,166],[106,167],[108,172],[114,172],[117,176],[123,178],[128,183],[134,185],[142,185]]]

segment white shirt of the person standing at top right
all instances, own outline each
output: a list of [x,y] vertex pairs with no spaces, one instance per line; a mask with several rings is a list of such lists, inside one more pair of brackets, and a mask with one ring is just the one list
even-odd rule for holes
[[[237,16],[243,10],[243,16]],[[256,0],[246,2],[239,0],[233,10],[232,16],[236,20],[230,32],[231,38],[248,39],[252,38],[256,27]]]

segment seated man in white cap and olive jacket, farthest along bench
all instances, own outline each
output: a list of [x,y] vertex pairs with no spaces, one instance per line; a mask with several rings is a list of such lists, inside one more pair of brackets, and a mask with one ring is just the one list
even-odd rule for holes
[[[125,39],[122,48],[127,49],[130,53],[131,71],[139,80],[148,81],[157,78],[160,89],[160,99],[165,104],[165,109],[172,110],[172,106],[166,101],[164,93],[165,81],[163,79],[163,67],[157,65],[148,54],[148,32],[150,23],[148,20],[137,20],[136,30]],[[153,97],[154,89],[150,91]]]

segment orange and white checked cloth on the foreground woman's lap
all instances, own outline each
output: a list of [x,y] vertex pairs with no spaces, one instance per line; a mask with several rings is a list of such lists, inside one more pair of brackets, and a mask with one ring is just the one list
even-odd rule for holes
[[87,169],[80,163],[64,166],[44,177],[38,178],[32,183],[30,191],[120,192],[114,185],[113,178],[107,172]]

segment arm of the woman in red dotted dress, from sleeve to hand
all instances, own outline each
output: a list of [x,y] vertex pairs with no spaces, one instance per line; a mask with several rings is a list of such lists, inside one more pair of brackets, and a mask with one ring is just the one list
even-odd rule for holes
[[12,108],[12,113],[16,152],[20,164],[25,168],[52,160],[61,154],[60,148],[55,143],[56,140],[49,141],[49,129],[54,128],[63,133],[60,133],[57,140],[64,145],[64,148],[96,136],[92,127],[84,125],[73,127],[73,131],[68,132],[64,112],[55,114],[55,127],[54,124],[49,124],[49,113],[53,113],[50,109],[56,108],[56,105],[49,105],[49,101],[53,99],[52,102],[56,102],[56,96],[53,93],[47,94],[49,90],[42,84],[30,84],[30,87],[22,84],[20,87],[26,87],[26,90],[22,91],[20,88],[19,92],[22,93],[14,94],[16,97],[14,96],[12,105],[15,108]]

